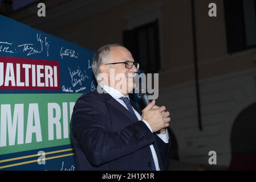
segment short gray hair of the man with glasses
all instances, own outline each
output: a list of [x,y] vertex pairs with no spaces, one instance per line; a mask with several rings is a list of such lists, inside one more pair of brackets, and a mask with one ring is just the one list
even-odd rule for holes
[[100,65],[106,63],[112,47],[121,46],[120,44],[107,44],[97,49],[94,60],[92,61],[92,71],[97,80],[97,76],[100,74]]

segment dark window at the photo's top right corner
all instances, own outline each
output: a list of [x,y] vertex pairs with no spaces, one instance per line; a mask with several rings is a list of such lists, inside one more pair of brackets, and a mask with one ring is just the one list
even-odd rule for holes
[[256,0],[225,0],[227,51],[256,47]]

